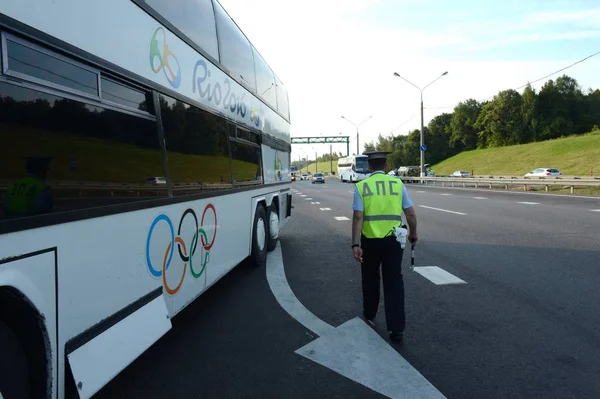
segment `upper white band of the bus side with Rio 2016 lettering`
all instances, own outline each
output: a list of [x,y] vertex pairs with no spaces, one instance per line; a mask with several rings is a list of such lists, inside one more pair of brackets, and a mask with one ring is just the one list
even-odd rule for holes
[[[281,116],[130,0],[18,0],[3,2],[0,11],[250,128],[290,141],[288,123]],[[66,15],[69,23],[56,23]],[[126,46],[121,45],[125,38]],[[178,80],[171,82],[166,72],[154,72],[158,68],[150,62],[153,39],[173,54]]]

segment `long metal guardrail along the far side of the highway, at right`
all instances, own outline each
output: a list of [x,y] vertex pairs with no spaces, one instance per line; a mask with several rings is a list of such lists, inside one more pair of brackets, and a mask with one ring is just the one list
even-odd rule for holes
[[[548,176],[548,177],[515,177],[515,176],[498,176],[498,177],[410,177],[401,176],[403,182],[418,182],[434,186],[441,185],[442,187],[487,187],[504,186],[505,190],[509,187],[522,186],[524,191],[527,191],[529,186],[543,186],[546,191],[550,186],[563,186],[570,188],[571,193],[575,192],[575,187],[599,187],[600,178],[584,176]],[[441,184],[439,184],[441,183]]]

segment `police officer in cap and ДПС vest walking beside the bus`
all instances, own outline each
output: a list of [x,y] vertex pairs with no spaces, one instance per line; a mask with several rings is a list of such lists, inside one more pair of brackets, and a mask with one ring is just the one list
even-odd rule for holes
[[404,250],[393,234],[402,225],[402,213],[409,226],[408,241],[415,245],[417,216],[402,180],[387,175],[387,154],[368,156],[371,175],[356,184],[352,209],[352,255],[361,262],[363,316],[375,326],[379,307],[379,268],[383,272],[385,318],[390,339],[401,342],[405,326],[402,255]]

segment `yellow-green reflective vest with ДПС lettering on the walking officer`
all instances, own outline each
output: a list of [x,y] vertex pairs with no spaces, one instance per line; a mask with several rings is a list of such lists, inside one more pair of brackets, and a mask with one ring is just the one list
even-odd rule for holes
[[402,223],[402,180],[373,173],[356,183],[363,203],[361,233],[367,238],[384,238]]

